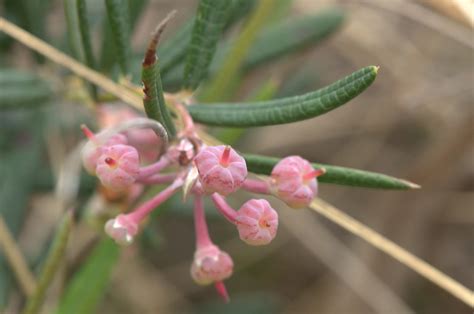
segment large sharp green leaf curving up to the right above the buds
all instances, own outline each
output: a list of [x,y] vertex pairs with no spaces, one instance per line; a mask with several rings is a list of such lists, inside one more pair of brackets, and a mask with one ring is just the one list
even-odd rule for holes
[[252,127],[314,118],[347,103],[372,84],[378,67],[360,69],[317,91],[270,101],[189,106],[194,121],[215,126]]

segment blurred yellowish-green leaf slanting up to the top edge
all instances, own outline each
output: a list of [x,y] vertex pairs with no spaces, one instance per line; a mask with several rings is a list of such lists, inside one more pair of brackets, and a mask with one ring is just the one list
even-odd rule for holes
[[244,29],[239,34],[235,44],[230,49],[222,63],[219,72],[212,78],[201,98],[212,102],[223,99],[230,94],[232,81],[237,77],[241,63],[257,37],[260,29],[265,25],[276,4],[276,0],[261,0],[250,16]]

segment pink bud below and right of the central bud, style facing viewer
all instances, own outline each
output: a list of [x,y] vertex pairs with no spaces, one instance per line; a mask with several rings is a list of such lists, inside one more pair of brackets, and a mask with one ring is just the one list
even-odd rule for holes
[[252,199],[237,211],[236,225],[245,243],[266,245],[276,236],[278,214],[266,200]]

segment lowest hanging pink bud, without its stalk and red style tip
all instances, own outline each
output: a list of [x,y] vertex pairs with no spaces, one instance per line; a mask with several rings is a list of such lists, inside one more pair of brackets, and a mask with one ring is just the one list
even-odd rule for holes
[[229,278],[233,268],[234,263],[229,254],[211,244],[194,253],[191,276],[196,283],[208,285]]

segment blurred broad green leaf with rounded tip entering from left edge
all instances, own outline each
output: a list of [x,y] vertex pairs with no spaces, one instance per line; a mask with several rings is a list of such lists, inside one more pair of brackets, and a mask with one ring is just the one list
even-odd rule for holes
[[49,85],[34,74],[14,69],[0,70],[0,110],[38,108],[52,98]]

